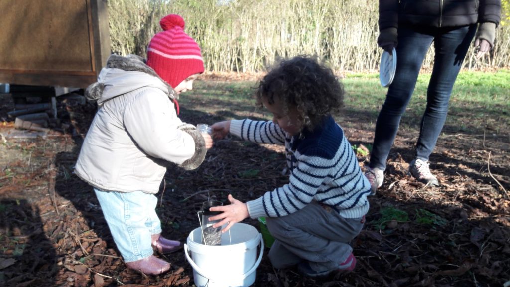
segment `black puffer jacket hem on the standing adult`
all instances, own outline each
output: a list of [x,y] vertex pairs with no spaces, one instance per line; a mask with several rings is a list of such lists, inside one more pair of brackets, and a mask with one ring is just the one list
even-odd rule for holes
[[499,24],[501,0],[379,0],[379,30],[399,25],[460,27]]

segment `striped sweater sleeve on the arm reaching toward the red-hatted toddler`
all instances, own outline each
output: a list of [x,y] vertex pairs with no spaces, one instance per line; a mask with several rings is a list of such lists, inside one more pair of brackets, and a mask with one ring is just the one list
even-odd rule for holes
[[284,145],[287,133],[272,121],[233,119],[230,133],[248,141]]

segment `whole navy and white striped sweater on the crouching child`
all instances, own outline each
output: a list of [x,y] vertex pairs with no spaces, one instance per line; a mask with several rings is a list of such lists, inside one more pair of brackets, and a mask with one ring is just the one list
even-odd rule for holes
[[233,119],[230,133],[258,143],[285,145],[291,171],[288,184],[246,202],[250,218],[282,217],[312,200],[335,209],[344,218],[360,218],[369,208],[370,183],[333,117],[303,137],[290,136],[272,121]]

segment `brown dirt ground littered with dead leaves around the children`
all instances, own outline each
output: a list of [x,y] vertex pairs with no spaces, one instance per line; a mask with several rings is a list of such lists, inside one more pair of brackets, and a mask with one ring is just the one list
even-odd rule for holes
[[[158,255],[172,264],[161,276],[126,269],[92,188],[73,175],[95,106],[59,98],[64,130],[43,137],[14,129],[7,116],[13,106],[0,95],[0,285],[193,286],[184,252]],[[183,121],[221,119],[194,109],[181,107]],[[345,113],[351,145],[371,143],[374,119],[366,117]],[[431,157],[439,188],[406,174],[417,134],[399,131],[385,183],[369,199],[366,226],[352,242],[355,271],[305,278],[295,269],[275,270],[265,249],[253,286],[503,286],[510,280],[510,129],[502,125],[445,128]],[[362,153],[358,159],[368,162]],[[185,241],[208,196],[246,201],[285,184],[284,164],[281,147],[216,141],[197,170],[168,170],[157,195],[163,235]],[[259,228],[258,221],[244,223]]]

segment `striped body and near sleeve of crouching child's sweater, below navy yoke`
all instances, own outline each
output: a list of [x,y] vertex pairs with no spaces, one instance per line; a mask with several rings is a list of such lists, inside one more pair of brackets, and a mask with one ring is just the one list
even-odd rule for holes
[[346,218],[358,218],[368,211],[368,180],[361,172],[345,137],[331,156],[321,148],[297,154],[297,168],[289,183],[246,202],[250,218],[282,217],[304,208],[312,200],[327,204]]

